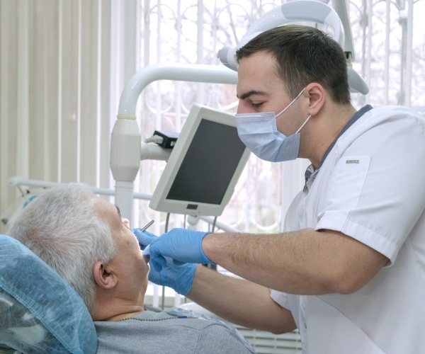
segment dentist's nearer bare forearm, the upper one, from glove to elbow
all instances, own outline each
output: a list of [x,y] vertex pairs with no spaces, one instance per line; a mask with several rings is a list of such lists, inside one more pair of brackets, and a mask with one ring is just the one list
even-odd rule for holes
[[299,295],[354,292],[387,263],[365,244],[330,230],[208,234],[202,248],[208,259],[244,279]]

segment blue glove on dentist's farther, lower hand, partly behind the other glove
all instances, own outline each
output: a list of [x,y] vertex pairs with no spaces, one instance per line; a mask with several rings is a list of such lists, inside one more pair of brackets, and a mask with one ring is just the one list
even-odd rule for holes
[[[137,241],[139,241],[140,249],[144,251],[144,256],[149,257],[149,244],[157,236],[141,229],[132,229]],[[145,254],[145,251],[147,251]],[[193,275],[195,275],[196,265],[193,263],[182,263],[174,261],[169,257],[158,256],[155,261],[149,261],[149,281],[158,285],[171,287],[174,291],[181,295],[187,295],[191,291]]]

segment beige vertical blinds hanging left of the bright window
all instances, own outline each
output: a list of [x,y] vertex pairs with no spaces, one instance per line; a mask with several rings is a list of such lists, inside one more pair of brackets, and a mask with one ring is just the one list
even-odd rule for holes
[[112,6],[0,0],[0,212],[13,176],[109,187]]

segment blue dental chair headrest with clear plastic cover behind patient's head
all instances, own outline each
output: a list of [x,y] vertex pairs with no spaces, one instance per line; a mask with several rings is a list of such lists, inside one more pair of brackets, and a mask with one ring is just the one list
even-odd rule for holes
[[96,353],[83,300],[55,270],[0,234],[0,353]]

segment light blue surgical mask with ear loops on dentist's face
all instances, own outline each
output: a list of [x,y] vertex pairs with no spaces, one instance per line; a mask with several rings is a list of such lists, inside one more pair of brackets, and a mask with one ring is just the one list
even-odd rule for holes
[[288,137],[278,131],[276,118],[290,108],[304,90],[302,89],[298,93],[298,96],[278,115],[274,112],[242,113],[235,115],[239,138],[260,159],[280,162],[295,160],[297,158],[300,150],[300,130],[310,119],[311,115],[302,123],[300,129],[295,134]]

